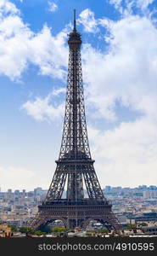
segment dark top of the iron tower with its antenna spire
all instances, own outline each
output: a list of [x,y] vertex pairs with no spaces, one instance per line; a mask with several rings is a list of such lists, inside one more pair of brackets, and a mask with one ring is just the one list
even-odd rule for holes
[[74,26],[73,31],[70,32],[68,44],[71,49],[78,49],[81,46],[81,33],[76,30],[76,9],[74,9]]

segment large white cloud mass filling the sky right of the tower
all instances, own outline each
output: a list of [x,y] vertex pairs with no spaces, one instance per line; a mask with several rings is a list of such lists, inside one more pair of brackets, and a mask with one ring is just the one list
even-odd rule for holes
[[110,131],[89,129],[98,177],[103,186],[155,184],[157,29],[149,16],[125,15],[100,23],[109,32],[104,38],[109,51],[89,44],[82,50],[88,106],[95,108],[95,118],[117,121],[118,101],[121,108],[137,111],[137,119]]

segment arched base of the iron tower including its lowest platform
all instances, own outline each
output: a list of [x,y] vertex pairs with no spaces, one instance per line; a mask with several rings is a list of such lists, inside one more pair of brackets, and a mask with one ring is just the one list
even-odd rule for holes
[[109,201],[67,201],[59,200],[43,203],[38,207],[36,218],[31,227],[37,229],[41,225],[48,225],[54,220],[61,220],[66,228],[79,227],[86,229],[91,220],[106,224],[110,229],[120,230],[121,224],[115,218]]

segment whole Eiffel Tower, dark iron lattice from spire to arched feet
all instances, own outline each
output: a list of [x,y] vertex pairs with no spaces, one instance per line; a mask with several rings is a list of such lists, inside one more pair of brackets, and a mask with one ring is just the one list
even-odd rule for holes
[[76,10],[74,28],[68,36],[68,84],[59,160],[55,161],[57,167],[53,181],[45,200],[38,206],[31,227],[37,229],[58,219],[67,228],[86,229],[91,220],[98,220],[110,229],[119,230],[121,224],[98,183],[88,143],[81,72],[81,34],[76,30]]

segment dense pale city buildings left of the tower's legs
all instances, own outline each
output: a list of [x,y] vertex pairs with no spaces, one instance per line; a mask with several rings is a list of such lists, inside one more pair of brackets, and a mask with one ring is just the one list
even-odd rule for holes
[[36,188],[26,192],[8,189],[0,192],[0,222],[14,226],[25,226],[27,221],[35,216],[37,206],[42,202],[47,190]]

